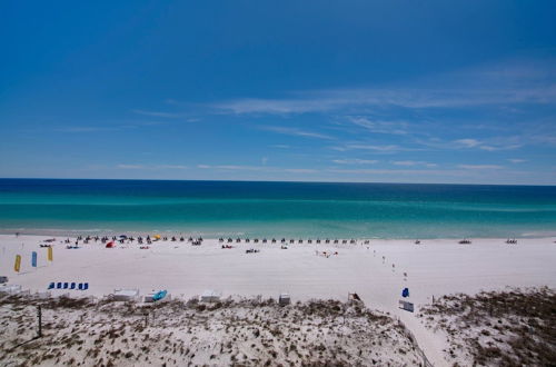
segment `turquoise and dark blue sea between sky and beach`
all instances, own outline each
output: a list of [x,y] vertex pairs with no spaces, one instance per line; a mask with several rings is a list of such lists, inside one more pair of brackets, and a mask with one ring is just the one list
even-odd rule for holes
[[542,237],[556,187],[0,179],[0,231]]

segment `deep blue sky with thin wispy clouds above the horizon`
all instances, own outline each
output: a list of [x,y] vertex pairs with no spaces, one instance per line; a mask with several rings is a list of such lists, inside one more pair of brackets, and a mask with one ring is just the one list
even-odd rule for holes
[[0,177],[556,185],[554,1],[2,1]]

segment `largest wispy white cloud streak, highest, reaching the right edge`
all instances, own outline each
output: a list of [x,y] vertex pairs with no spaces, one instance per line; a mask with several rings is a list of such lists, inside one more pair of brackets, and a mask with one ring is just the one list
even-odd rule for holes
[[288,115],[369,107],[427,109],[519,103],[556,103],[556,68],[550,62],[512,60],[415,80],[403,87],[305,90],[286,98],[240,98],[211,107],[220,113]]

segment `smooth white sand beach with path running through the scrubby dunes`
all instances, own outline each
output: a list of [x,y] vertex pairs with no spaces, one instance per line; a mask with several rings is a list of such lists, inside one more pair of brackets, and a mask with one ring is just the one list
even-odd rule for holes
[[[416,311],[433,297],[447,294],[475,294],[506,287],[556,288],[556,238],[473,239],[459,245],[455,239],[371,240],[369,245],[334,244],[230,244],[222,249],[217,239],[201,246],[156,241],[149,249],[136,244],[80,244],[67,249],[57,238],[53,261],[47,261],[41,236],[0,236],[0,275],[10,284],[31,292],[46,291],[50,282],[89,282],[89,289],[52,290],[52,295],[97,296],[115,288],[138,288],[141,295],[167,289],[173,298],[189,299],[205,289],[226,296],[277,297],[288,292],[292,301],[318,299],[347,300],[357,292],[370,309],[390,313],[414,333],[417,343],[435,366],[446,365],[446,340],[415,317],[398,308],[401,289],[409,288],[408,300]],[[260,249],[246,254],[246,249]],[[38,252],[38,267],[31,267],[31,251]],[[328,257],[316,255],[327,251]],[[337,255],[334,255],[337,252]],[[21,255],[21,271],[13,261]]]

